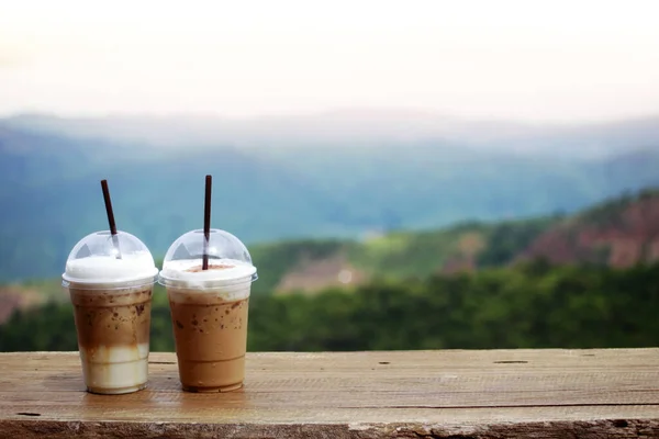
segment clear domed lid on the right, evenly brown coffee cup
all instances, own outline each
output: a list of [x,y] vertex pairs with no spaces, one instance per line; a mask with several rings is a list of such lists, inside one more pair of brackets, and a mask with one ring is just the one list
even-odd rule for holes
[[204,290],[258,279],[249,251],[238,238],[216,228],[211,228],[209,236],[208,270],[202,270],[203,230],[188,232],[167,250],[159,283]]

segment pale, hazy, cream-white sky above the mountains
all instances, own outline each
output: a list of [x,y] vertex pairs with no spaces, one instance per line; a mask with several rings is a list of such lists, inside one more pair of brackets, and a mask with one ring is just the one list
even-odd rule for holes
[[659,1],[0,1],[0,115],[659,114]]

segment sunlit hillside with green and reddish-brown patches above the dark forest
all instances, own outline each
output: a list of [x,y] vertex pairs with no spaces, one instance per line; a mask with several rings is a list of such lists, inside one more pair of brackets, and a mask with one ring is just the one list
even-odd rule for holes
[[[422,280],[535,259],[628,268],[659,261],[659,190],[614,199],[567,217],[465,223],[361,240],[292,240],[250,250],[259,270],[253,286],[257,296],[313,294],[376,280]],[[0,286],[0,323],[15,308],[65,299],[57,279]]]

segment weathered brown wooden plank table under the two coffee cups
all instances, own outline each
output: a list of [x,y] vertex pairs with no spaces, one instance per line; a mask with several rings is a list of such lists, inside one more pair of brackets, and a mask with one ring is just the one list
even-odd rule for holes
[[249,353],[244,390],[85,392],[77,352],[0,353],[0,438],[659,438],[659,349]]

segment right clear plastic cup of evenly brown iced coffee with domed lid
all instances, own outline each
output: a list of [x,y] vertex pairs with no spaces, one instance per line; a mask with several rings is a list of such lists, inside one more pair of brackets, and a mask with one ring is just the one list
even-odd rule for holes
[[203,230],[178,238],[167,251],[159,283],[167,289],[179,376],[188,392],[228,392],[245,379],[247,311],[256,268],[245,245],[211,229],[209,268],[202,270]]

